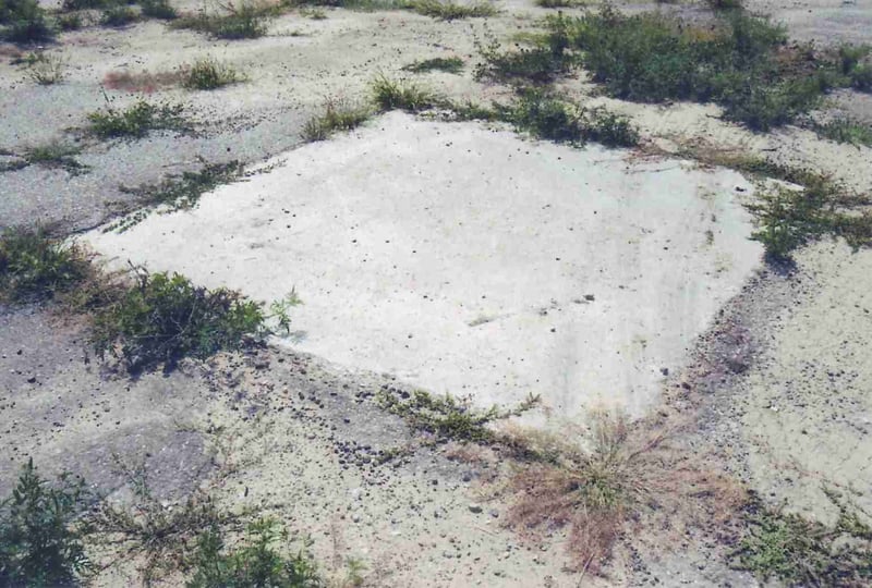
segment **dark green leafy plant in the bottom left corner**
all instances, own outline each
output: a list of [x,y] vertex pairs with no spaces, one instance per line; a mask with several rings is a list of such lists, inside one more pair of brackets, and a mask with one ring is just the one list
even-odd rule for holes
[[49,485],[29,460],[0,503],[0,586],[72,586],[86,575],[83,506],[81,480]]

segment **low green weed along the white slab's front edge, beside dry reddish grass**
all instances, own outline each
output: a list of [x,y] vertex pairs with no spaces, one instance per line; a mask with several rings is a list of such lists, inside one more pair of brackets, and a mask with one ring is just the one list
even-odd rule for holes
[[491,442],[496,439],[488,425],[519,416],[540,402],[531,395],[513,408],[492,406],[486,411],[472,406],[470,399],[457,399],[450,394],[434,396],[423,390],[408,393],[401,390],[382,389],[376,395],[378,404],[402,417],[413,429],[433,436],[434,441],[448,440]]

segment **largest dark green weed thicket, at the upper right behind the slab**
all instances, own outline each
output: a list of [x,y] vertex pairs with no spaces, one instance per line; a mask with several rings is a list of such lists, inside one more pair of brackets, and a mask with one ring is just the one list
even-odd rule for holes
[[572,59],[613,96],[714,101],[728,119],[759,131],[794,121],[828,89],[850,79],[862,84],[864,75],[863,65],[851,61],[856,53],[843,58],[840,72],[809,48],[789,47],[783,27],[742,11],[719,12],[705,29],[674,16],[623,15],[608,7],[548,22],[550,48],[576,51]]

